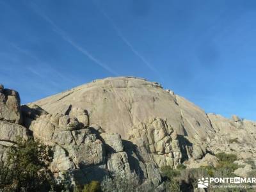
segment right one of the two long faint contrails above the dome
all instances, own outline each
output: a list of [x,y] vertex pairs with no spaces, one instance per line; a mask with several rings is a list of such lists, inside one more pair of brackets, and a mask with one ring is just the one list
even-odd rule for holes
[[[98,6],[99,7],[99,6]],[[156,68],[154,68],[146,59],[144,56],[142,56],[142,54],[140,52],[138,52],[134,46],[131,44],[131,42],[129,42],[129,40],[127,40],[127,38],[125,38],[125,36],[122,34],[121,30],[118,28],[118,26],[116,26],[115,22],[113,21],[113,19],[111,19],[111,17],[109,17],[109,15],[104,12],[104,10],[102,10],[101,8],[99,8],[100,12],[102,13],[102,15],[104,15],[104,17],[106,17],[106,19],[109,21],[109,23],[111,24],[111,26],[114,28],[114,30],[116,31],[116,34],[121,38],[121,40],[124,42],[125,45],[127,45],[131,51],[138,56],[138,58],[140,58],[140,60],[153,72],[155,72],[158,76],[159,76],[159,72],[156,70]],[[160,76],[161,77],[161,76]],[[161,77],[162,79],[162,77]]]

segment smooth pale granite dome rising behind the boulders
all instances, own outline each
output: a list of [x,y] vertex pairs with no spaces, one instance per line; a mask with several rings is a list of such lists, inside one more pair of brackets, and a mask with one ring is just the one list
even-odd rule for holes
[[206,139],[214,130],[207,115],[158,83],[134,77],[93,81],[35,102],[49,113],[65,114],[69,106],[88,111],[90,124],[127,139],[131,128],[150,117],[166,120],[177,134]]

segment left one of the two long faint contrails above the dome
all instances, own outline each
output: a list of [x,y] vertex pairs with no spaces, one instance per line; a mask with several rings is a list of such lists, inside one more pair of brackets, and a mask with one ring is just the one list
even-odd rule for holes
[[65,40],[66,42],[68,42],[70,45],[72,45],[72,47],[74,47],[77,51],[81,52],[84,56],[86,56],[87,58],[89,58],[91,61],[93,61],[94,63],[96,63],[97,65],[99,65],[100,67],[104,68],[105,70],[107,70],[109,73],[113,74],[114,76],[119,76],[119,74],[117,72],[115,72],[115,70],[113,70],[112,68],[110,68],[106,63],[103,63],[102,61],[100,61],[99,59],[95,58],[95,56],[93,56],[90,52],[88,52],[86,49],[84,49],[83,47],[81,47],[81,45],[77,44],[76,42],[74,42],[74,40],[72,40],[72,38],[70,38],[70,36],[67,35],[67,33],[65,33],[65,31],[63,29],[61,29],[59,26],[57,26],[57,24],[51,20],[49,17],[47,17],[47,15],[45,15],[44,13],[42,13],[40,10],[38,10],[36,8],[36,6],[33,6],[33,10],[34,12],[39,15],[40,17],[42,17],[42,19],[44,19],[45,21],[47,21],[49,24],[51,24],[53,31],[56,32],[58,35],[61,36],[61,38],[63,40]]

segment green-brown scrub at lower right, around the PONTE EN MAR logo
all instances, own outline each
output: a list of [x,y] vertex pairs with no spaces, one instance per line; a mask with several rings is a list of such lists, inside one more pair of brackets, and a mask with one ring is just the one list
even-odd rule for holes
[[[241,167],[234,163],[237,160],[235,154],[216,154],[219,159],[218,166],[201,166],[200,168],[184,168],[179,165],[177,169],[171,166],[163,166],[161,175],[166,183],[167,191],[193,191],[197,188],[198,179],[202,177],[236,177],[234,170]],[[251,175],[256,172],[252,172]],[[239,191],[240,189],[238,189]],[[212,189],[212,191],[221,191],[221,189]]]

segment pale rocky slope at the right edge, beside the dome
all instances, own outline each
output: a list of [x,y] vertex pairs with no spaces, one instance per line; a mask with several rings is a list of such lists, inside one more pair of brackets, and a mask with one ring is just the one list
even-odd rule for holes
[[255,157],[256,124],[238,117],[227,119],[220,115],[208,114],[216,134],[209,142],[209,149],[214,152],[235,153],[247,159]]

